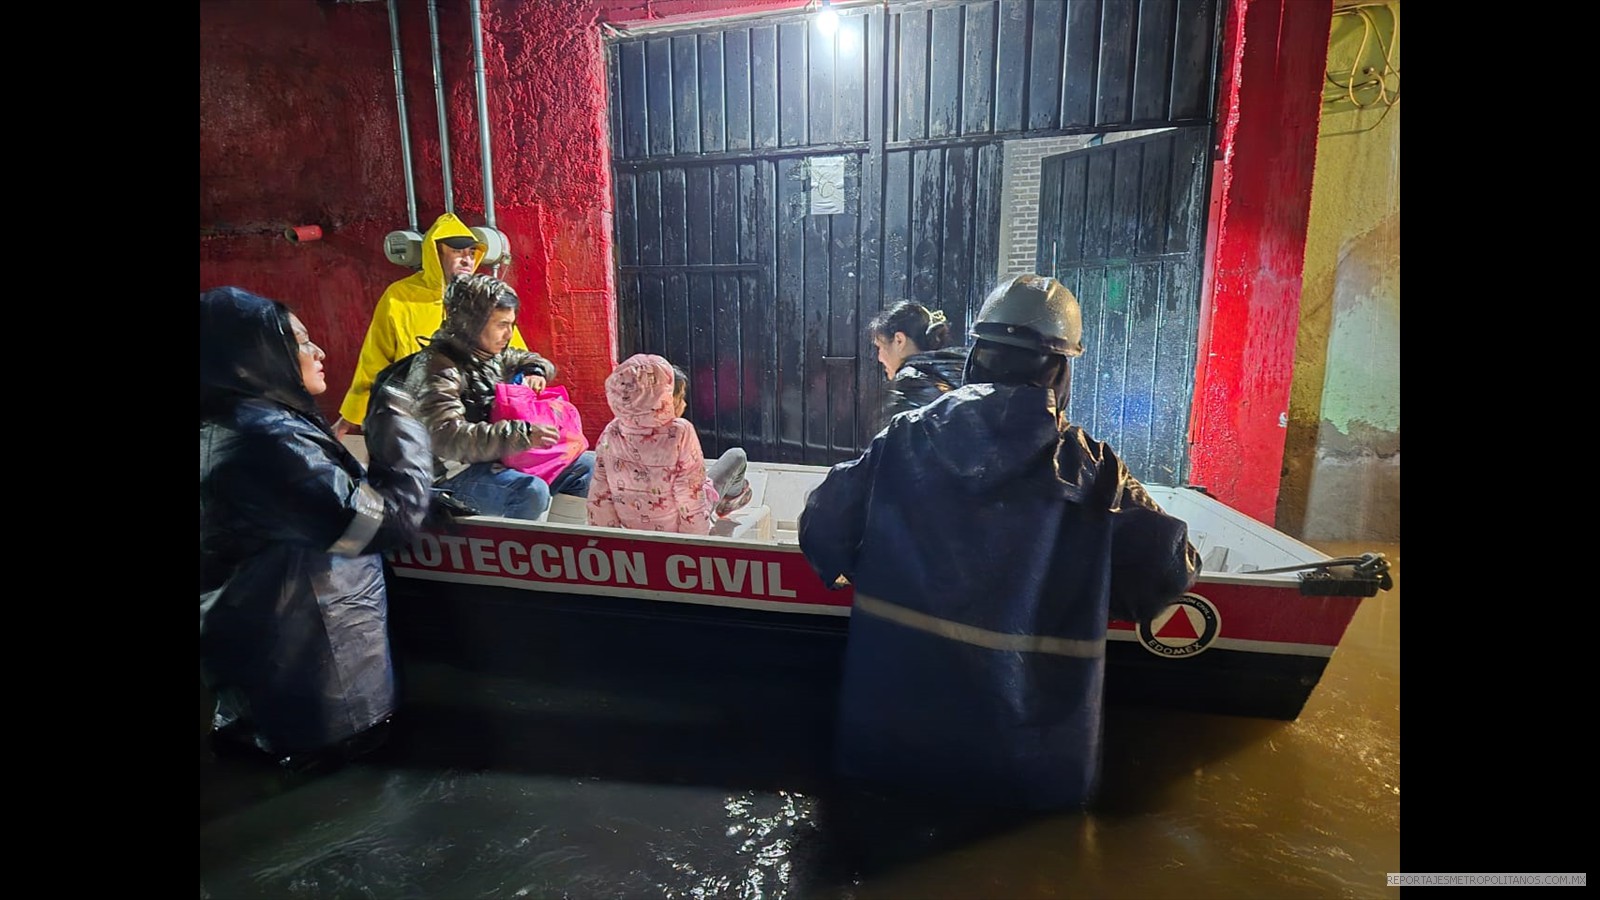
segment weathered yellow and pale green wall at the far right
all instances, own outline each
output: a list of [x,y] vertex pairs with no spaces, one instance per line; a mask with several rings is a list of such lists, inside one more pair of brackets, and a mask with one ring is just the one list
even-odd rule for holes
[[1328,72],[1357,86],[1323,90],[1277,509],[1306,540],[1400,540],[1398,13],[1330,29]]

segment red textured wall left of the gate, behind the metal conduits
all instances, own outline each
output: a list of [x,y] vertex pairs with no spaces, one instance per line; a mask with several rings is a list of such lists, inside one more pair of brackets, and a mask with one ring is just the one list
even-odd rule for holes
[[[563,367],[590,439],[610,421],[614,364],[611,178],[598,22],[790,8],[802,0],[485,0],[494,224],[528,344]],[[400,3],[419,229],[445,211],[427,6]],[[438,3],[454,211],[486,224],[466,0]],[[323,239],[293,245],[293,224]],[[235,283],[290,303],[328,351],[333,420],[384,287],[408,274],[382,237],[410,227],[389,6],[202,0],[200,288]]]

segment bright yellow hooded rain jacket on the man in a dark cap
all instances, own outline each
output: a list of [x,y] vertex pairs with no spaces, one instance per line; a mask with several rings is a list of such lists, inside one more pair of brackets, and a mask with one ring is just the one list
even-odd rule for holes
[[[422,349],[418,338],[432,338],[445,319],[445,269],[438,264],[437,240],[443,237],[472,237],[467,227],[454,213],[445,213],[434,219],[434,226],[422,235],[422,269],[406,275],[387,288],[378,298],[378,309],[373,311],[373,322],[366,327],[366,338],[362,340],[362,356],[355,364],[355,375],[350,378],[350,389],[339,404],[339,416],[344,421],[362,424],[366,418],[366,399],[373,391],[373,380],[390,362],[398,362],[406,356]],[[472,264],[483,261],[483,245],[474,250]],[[528,349],[522,340],[522,331],[512,328],[510,346]]]

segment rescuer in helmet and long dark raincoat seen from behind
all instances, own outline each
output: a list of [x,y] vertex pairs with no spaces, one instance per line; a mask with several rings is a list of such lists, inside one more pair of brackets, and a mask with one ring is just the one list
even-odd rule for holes
[[1106,625],[1200,573],[1182,520],[1066,421],[1077,298],[1021,275],[984,301],[966,384],[894,416],[806,500],[800,548],[856,591],[835,764],[1011,807],[1082,807],[1099,777]]

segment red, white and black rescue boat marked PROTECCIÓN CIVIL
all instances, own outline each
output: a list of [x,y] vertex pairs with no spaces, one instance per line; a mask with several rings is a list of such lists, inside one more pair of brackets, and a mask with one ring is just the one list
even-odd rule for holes
[[[709,536],[590,527],[568,496],[542,522],[472,516],[422,533],[390,554],[402,663],[835,679],[851,589],[822,586],[795,532],[826,474],[752,461],[750,506]],[[1333,559],[1200,490],[1146,487],[1205,565],[1149,628],[1110,621],[1109,701],[1296,717],[1362,599],[1390,586],[1387,560]]]

